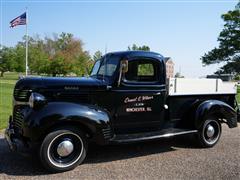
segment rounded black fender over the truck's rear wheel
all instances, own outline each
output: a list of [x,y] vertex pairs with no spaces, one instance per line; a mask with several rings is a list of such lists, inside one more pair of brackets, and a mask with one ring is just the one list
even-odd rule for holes
[[237,113],[231,106],[222,101],[207,100],[202,102],[196,110],[195,127],[197,129],[201,127],[209,114],[225,119],[229,128],[237,127]]

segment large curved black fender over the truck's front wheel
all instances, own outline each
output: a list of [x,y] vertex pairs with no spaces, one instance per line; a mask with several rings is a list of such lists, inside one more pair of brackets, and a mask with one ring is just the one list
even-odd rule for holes
[[92,105],[50,102],[42,109],[30,109],[29,112],[25,119],[28,127],[28,132],[25,134],[33,140],[38,139],[46,130],[59,123],[65,123],[67,126],[68,123],[75,122],[87,127],[92,134],[99,134],[102,129],[110,126],[108,112]]

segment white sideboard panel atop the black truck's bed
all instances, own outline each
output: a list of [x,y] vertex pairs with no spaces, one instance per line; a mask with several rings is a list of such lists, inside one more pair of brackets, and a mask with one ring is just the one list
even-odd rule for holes
[[221,79],[169,78],[168,95],[207,95],[236,94],[237,85],[234,82],[223,82]]

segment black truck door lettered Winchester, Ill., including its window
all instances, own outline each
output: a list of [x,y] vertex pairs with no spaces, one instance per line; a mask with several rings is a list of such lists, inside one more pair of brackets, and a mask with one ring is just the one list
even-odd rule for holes
[[114,91],[116,133],[147,132],[162,127],[166,97],[163,62],[142,57],[129,59],[128,72]]

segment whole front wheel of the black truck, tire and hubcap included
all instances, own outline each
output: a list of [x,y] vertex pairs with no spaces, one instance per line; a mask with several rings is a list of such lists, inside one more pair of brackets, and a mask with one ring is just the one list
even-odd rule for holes
[[64,128],[45,137],[40,148],[40,159],[47,170],[64,172],[81,164],[86,152],[85,135],[78,129]]

